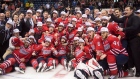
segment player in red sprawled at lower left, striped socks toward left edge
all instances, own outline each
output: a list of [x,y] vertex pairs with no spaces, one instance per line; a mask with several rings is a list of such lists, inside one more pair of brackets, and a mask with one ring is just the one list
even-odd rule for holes
[[12,54],[6,56],[5,61],[0,64],[0,74],[11,72],[13,67],[20,73],[25,73],[25,64],[32,56],[33,50],[30,47],[29,41],[25,40],[24,43],[19,38],[12,39],[12,44],[15,46]]

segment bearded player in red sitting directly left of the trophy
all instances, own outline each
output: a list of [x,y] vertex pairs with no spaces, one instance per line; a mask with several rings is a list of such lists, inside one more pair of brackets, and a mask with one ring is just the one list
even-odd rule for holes
[[67,70],[67,45],[67,38],[65,36],[62,36],[60,39],[60,43],[56,46],[58,54],[55,56],[55,58],[64,66],[65,70]]

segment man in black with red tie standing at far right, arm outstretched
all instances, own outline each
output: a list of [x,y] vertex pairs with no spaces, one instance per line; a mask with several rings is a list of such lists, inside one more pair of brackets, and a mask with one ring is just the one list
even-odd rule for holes
[[[111,19],[118,23],[124,23],[124,28],[119,28],[119,31],[124,31],[128,42],[129,68],[136,67],[136,77],[140,77],[140,18],[133,13],[132,6],[125,7],[125,16],[117,18],[111,14]],[[112,12],[111,12],[112,13]]]

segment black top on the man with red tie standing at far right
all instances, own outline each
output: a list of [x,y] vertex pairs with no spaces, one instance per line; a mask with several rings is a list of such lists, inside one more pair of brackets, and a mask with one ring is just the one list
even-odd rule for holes
[[[122,18],[117,18],[113,14],[111,14],[111,19],[113,19],[117,23],[124,23],[126,22],[127,17],[124,16]],[[126,27],[124,27],[123,31],[126,34],[127,39],[133,39],[140,33],[140,18],[131,14],[128,16],[128,21]]]

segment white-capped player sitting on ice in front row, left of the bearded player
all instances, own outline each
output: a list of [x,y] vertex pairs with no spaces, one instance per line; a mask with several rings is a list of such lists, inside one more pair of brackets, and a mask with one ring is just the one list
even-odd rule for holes
[[37,62],[39,63],[36,72],[44,72],[55,68],[58,62],[52,58],[52,55],[55,56],[58,52],[51,44],[50,38],[45,38],[44,45],[38,45],[35,52],[38,52]]

